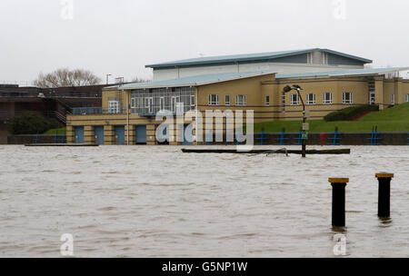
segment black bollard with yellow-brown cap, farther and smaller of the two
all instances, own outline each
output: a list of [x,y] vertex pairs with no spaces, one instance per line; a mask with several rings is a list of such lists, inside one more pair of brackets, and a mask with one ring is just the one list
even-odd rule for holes
[[394,173],[376,173],[379,182],[378,216],[389,218],[391,216],[391,181]]

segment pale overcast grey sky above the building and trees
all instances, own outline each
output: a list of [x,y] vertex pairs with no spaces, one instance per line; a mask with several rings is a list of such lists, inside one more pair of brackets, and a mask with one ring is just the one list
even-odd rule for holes
[[60,67],[148,78],[145,64],[311,47],[409,66],[407,0],[71,0],[72,19],[69,1],[0,1],[0,82]]

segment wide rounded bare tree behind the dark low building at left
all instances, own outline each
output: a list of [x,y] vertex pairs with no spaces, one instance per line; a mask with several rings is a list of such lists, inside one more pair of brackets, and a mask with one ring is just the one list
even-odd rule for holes
[[42,88],[83,86],[101,84],[101,79],[88,70],[61,68],[49,74],[40,73],[34,84]]

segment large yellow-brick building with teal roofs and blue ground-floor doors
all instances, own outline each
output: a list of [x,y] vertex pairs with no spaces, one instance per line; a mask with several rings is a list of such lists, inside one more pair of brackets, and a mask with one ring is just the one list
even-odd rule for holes
[[[353,105],[384,109],[409,102],[409,80],[399,77],[408,68],[365,68],[371,63],[351,54],[309,49],[146,65],[154,70],[154,82],[106,87],[101,108],[75,109],[67,117],[67,141],[157,144],[156,129],[163,122],[155,114],[161,110],[252,110],[254,123],[299,120],[303,114],[297,95],[283,92],[292,84],[303,87],[311,119]],[[177,135],[192,125],[173,125],[159,136]]]

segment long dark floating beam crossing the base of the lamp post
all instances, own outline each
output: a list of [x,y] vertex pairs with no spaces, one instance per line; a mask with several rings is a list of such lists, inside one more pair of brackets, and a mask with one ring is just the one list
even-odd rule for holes
[[[250,152],[237,152],[234,149],[182,149],[183,153],[234,153],[234,154],[263,154],[263,153],[284,153],[285,150],[253,150]],[[287,150],[289,154],[302,154],[301,150]],[[306,154],[350,154],[351,149],[335,150],[307,150]]]

